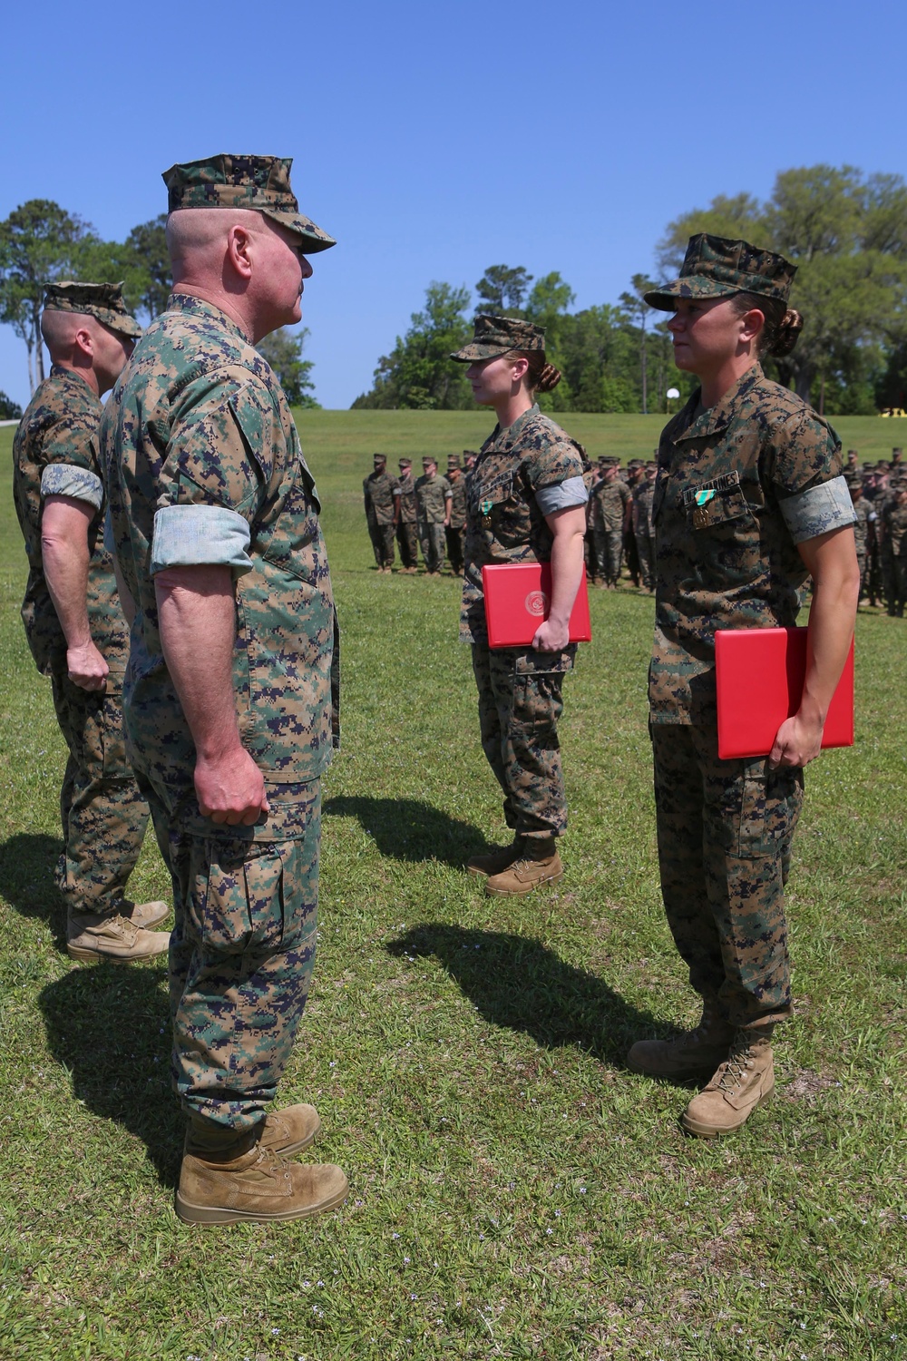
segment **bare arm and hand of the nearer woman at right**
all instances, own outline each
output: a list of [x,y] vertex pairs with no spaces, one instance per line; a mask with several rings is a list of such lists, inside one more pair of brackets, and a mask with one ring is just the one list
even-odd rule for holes
[[782,723],[768,754],[772,769],[804,766],[819,755],[828,705],[854,636],[859,596],[859,568],[850,525],[806,539],[797,547],[813,578],[809,610],[812,657],[800,709]]

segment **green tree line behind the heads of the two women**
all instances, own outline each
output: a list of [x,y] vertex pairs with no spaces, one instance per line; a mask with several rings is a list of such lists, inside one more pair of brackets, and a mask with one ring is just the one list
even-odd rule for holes
[[[771,197],[718,196],[674,218],[657,246],[657,279],[676,278],[698,231],[742,237],[797,265],[791,306],[804,314],[800,344],[766,369],[820,412],[872,415],[907,406],[907,184],[853,166],[778,174]],[[574,310],[556,271],[538,279],[491,265],[476,284],[431,283],[422,312],[382,355],[370,392],[354,407],[466,410],[464,367],[449,354],[472,332],[472,316],[519,316],[545,327],[548,358],[563,380],[541,399],[552,411],[665,411],[666,392],[685,397],[695,380],[673,366],[666,314],[643,299],[654,282],[634,274],[615,304]]]

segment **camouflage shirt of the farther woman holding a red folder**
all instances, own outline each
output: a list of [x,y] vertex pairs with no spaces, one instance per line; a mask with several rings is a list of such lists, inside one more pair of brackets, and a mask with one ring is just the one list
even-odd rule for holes
[[460,641],[487,642],[481,569],[492,562],[549,562],[551,529],[536,491],[583,475],[583,448],[537,406],[495,426],[466,486],[466,550]]

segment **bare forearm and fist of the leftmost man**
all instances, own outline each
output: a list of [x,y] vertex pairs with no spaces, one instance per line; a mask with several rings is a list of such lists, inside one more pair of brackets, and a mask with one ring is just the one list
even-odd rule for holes
[[41,512],[44,578],[67,640],[67,672],[83,690],[105,690],[107,663],[88,627],[88,525],[97,510],[76,497],[46,497]]

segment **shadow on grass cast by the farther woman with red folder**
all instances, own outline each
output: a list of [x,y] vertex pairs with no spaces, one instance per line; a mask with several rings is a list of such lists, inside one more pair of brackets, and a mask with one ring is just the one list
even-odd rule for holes
[[461,868],[470,855],[488,845],[479,827],[420,799],[339,795],[328,799],[322,811],[326,817],[358,818],[381,853],[394,860],[441,860]]

